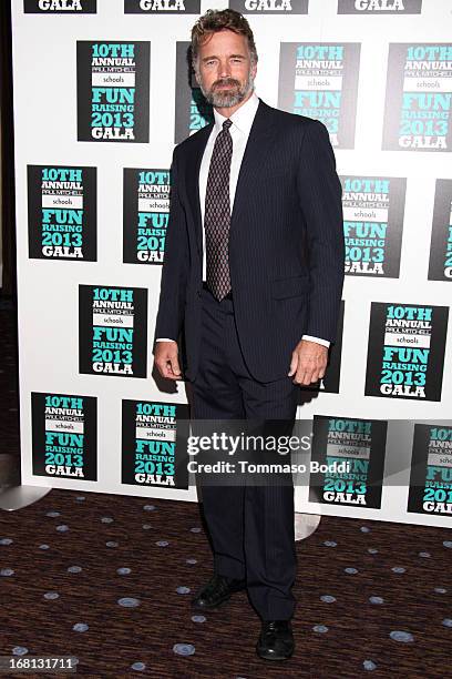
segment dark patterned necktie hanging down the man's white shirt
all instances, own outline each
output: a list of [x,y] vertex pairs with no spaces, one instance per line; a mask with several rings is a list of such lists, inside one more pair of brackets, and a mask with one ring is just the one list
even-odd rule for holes
[[230,199],[229,175],[233,158],[230,120],[225,120],[217,134],[206,186],[204,229],[206,236],[206,283],[214,297],[220,302],[230,292],[229,277],[229,226]]

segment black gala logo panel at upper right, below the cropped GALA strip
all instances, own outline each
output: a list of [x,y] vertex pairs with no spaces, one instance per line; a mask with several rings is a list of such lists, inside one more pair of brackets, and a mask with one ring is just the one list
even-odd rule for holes
[[392,151],[450,151],[452,44],[389,45],[383,145]]

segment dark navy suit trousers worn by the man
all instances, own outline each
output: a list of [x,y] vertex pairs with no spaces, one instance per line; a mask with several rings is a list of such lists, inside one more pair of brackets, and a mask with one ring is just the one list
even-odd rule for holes
[[[289,371],[290,356],[287,364]],[[267,433],[291,434],[297,385],[288,376],[269,383],[253,378],[240,351],[234,296],[218,302],[205,285],[201,362],[191,384],[194,433],[197,420],[236,419],[264,427],[270,423]],[[285,483],[265,485],[212,485],[202,477],[198,482],[215,572],[246,579],[250,602],[263,620],[290,619],[297,569],[291,475],[289,483],[286,474]]]

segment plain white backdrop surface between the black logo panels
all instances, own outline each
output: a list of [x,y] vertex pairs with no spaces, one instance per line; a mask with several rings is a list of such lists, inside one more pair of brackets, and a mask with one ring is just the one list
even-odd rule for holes
[[[201,11],[224,7],[224,2],[202,0]],[[196,16],[124,14],[122,0],[97,0],[96,13],[79,14],[51,10],[24,13],[22,0],[13,1],[22,482],[83,491],[196,500],[193,487],[185,490],[131,485],[123,484],[121,477],[121,402],[186,403],[183,384],[178,384],[176,393],[168,394],[158,391],[151,375],[161,266],[123,263],[123,169],[170,166],[175,140],[176,90],[181,87],[175,78],[176,42],[189,40]],[[450,302],[449,282],[428,280],[435,181],[452,179],[450,141],[445,152],[382,150],[389,45],[446,43],[452,23],[450,3],[424,0],[422,13],[400,11],[400,16],[388,12],[380,16],[369,11],[338,14],[337,0],[310,0],[307,14],[250,12],[247,18],[259,53],[256,90],[264,101],[275,107],[278,107],[280,43],[360,43],[355,148],[335,150],[338,172],[342,176],[407,179],[403,224],[399,225],[403,226],[400,275],[346,276],[339,393],[320,389],[318,397],[300,406],[298,415],[383,420],[397,417],[418,423],[445,420],[451,416],[452,403],[450,337],[445,343],[440,401],[366,396],[364,382],[372,302],[444,307]],[[78,41],[151,43],[148,142],[78,141]],[[452,91],[451,80],[449,91]],[[96,168],[95,262],[29,257],[27,166],[30,165]],[[148,291],[146,378],[79,372],[80,284]],[[96,398],[97,480],[33,473],[32,393]],[[305,484],[297,487],[297,510],[450,526],[451,514],[407,513],[411,435],[402,445],[396,442],[397,435],[389,426],[387,463],[397,456],[402,470],[396,485],[391,478],[392,484],[383,486],[381,508],[312,503]],[[34,454],[43,455],[40,450]]]

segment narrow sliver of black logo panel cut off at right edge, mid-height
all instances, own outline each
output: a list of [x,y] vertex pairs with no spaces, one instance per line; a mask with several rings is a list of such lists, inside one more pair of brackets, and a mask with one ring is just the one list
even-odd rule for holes
[[436,180],[429,280],[452,281],[452,180]]

